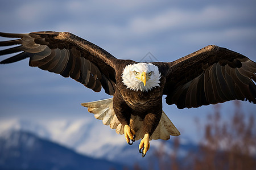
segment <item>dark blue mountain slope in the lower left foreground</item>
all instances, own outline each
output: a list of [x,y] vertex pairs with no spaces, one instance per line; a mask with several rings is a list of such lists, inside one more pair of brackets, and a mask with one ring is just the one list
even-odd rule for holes
[[77,154],[69,148],[24,131],[0,137],[0,169],[122,169],[123,165]]

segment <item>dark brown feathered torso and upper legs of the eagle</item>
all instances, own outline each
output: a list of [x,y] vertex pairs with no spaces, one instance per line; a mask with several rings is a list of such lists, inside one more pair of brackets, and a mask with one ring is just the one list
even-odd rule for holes
[[[115,94],[113,97],[113,107],[118,120],[122,125],[130,125],[131,115],[139,116],[143,121],[143,133],[154,133],[162,115],[162,97],[163,84],[166,82],[165,72],[162,67],[159,68],[161,73],[160,87],[155,87],[150,91],[142,92],[140,90],[130,90],[122,83],[122,70],[126,65],[136,63],[134,61],[118,61],[115,79],[117,80]],[[154,123],[153,123],[154,122]]]

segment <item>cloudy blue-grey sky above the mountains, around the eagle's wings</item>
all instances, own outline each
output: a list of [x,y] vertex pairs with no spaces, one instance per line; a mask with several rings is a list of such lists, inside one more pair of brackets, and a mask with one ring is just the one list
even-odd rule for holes
[[[255,7],[253,0],[1,1],[0,31],[68,31],[117,58],[135,61],[150,52],[158,61],[170,62],[210,44],[256,61]],[[28,59],[0,66],[0,118],[90,117],[80,103],[108,97],[28,67]],[[221,108],[228,117],[233,103]],[[256,106],[243,102],[242,108],[250,114]],[[181,132],[196,135],[189,124],[213,106],[179,110],[164,104],[163,109]]]

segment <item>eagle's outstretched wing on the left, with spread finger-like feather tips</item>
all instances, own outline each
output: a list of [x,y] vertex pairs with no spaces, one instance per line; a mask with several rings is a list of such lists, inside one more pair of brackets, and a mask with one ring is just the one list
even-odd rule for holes
[[114,61],[111,54],[89,41],[68,32],[0,33],[18,38],[1,41],[0,46],[18,45],[0,51],[0,56],[17,53],[0,63],[30,58],[29,65],[71,77],[93,91],[113,95],[115,91]]

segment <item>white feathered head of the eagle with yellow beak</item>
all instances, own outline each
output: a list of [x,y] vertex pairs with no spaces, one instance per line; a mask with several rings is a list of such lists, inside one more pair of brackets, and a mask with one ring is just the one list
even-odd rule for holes
[[161,74],[157,66],[152,63],[135,63],[123,69],[122,82],[131,90],[142,92],[159,87]]

